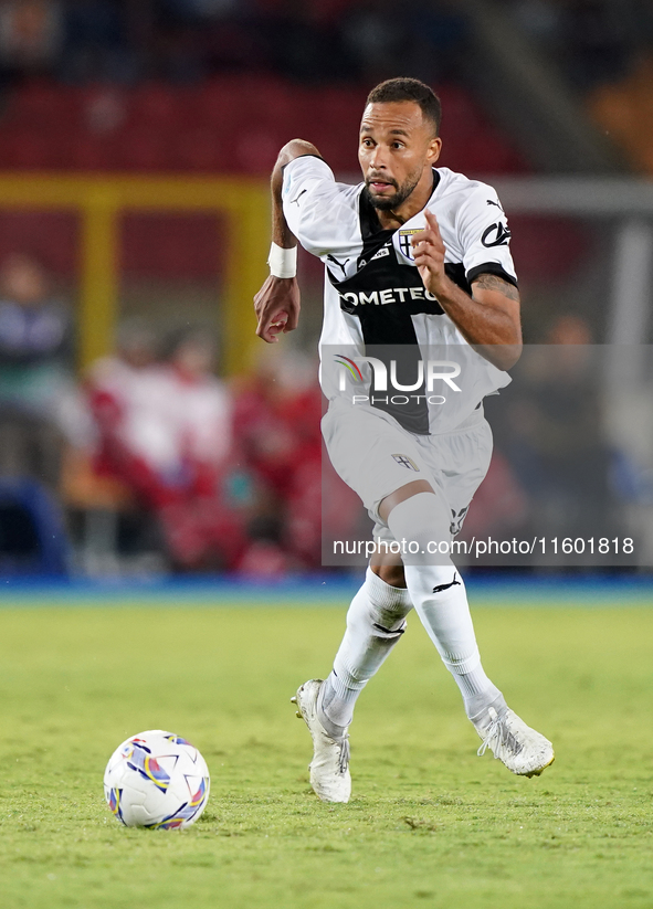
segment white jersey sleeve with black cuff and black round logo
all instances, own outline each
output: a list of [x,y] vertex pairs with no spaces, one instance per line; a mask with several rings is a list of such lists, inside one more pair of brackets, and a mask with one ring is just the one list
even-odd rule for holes
[[517,285],[508,220],[492,187],[481,183],[470,193],[461,207],[457,233],[470,284],[481,274],[491,274]]

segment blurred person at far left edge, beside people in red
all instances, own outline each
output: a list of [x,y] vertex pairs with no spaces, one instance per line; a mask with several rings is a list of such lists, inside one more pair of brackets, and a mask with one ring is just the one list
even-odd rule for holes
[[91,440],[70,310],[53,298],[42,265],[13,254],[0,268],[0,473],[56,486],[64,442]]

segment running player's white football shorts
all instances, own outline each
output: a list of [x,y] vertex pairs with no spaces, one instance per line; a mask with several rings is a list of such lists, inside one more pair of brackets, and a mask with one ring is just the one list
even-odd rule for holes
[[386,496],[425,479],[449,508],[455,536],[492,458],[492,430],[482,406],[452,432],[414,435],[383,411],[336,398],[322,433],[334,468],[376,522],[375,538],[389,542],[392,535],[378,511]]

